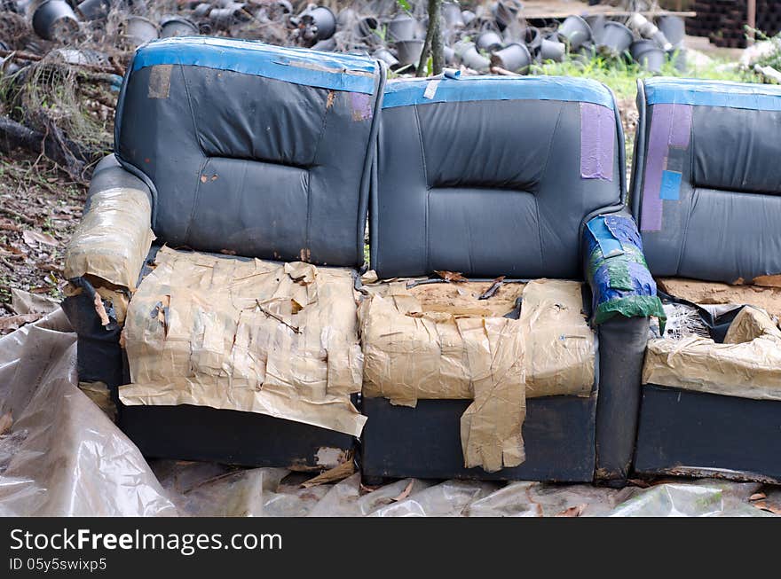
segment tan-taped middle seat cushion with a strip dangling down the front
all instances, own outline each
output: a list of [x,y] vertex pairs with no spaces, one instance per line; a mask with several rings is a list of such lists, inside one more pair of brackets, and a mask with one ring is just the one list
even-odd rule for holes
[[[526,395],[588,395],[595,345],[580,283],[505,284],[478,300],[490,285],[380,284],[359,318],[363,394],[412,407],[419,399],[474,400],[461,416],[464,465],[495,472],[525,460]],[[505,317],[518,298],[520,319]]]

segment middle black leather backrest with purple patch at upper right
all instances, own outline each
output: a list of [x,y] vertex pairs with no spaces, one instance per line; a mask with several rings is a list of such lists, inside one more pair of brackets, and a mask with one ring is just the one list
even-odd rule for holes
[[580,224],[624,191],[611,92],[584,79],[390,81],[376,162],[381,278],[582,278]]

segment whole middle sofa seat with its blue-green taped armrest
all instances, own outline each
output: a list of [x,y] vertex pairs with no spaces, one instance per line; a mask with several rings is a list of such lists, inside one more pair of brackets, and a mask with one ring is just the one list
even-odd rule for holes
[[359,307],[368,481],[626,480],[663,312],[625,201],[597,82],[386,84],[369,227],[388,281]]

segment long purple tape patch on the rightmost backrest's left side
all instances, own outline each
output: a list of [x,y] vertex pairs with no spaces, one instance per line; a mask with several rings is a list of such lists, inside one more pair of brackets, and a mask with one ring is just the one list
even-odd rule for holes
[[[653,106],[651,133],[645,153],[645,182],[640,212],[640,231],[661,231],[662,200],[678,200],[670,186],[662,190],[670,147],[689,148],[691,135],[691,106],[659,103]],[[678,181],[680,188],[680,179]],[[669,190],[669,191],[668,191]]]

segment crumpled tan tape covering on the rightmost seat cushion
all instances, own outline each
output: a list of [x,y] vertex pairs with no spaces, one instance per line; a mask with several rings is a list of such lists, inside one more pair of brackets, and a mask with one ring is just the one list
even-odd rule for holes
[[722,344],[700,336],[650,340],[643,384],[781,400],[781,331],[763,310],[746,306]]

